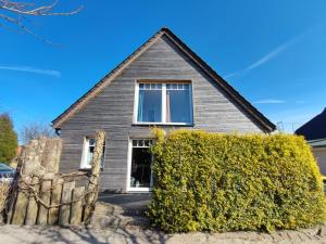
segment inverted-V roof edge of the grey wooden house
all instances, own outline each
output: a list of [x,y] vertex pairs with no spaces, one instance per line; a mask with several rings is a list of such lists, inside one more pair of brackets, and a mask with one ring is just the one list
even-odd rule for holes
[[59,129],[60,126],[73,114],[79,111],[90,99],[96,97],[104,87],[106,87],[114,78],[116,78],[141,53],[150,48],[159,38],[166,36],[175,43],[189,59],[195,62],[208,76],[210,76],[220,88],[227,93],[244,112],[247,112],[254,121],[265,132],[272,132],[276,126],[271,123],[263,114],[261,114],[252,104],[250,104],[242,95],[240,95],[231,86],[229,86],[220,75],[216,74],[203,60],[192,52],[177,36],[168,28],[160,29],[154,36],[138,48],[131,55],[116,66],[111,73],[96,84],[80,99],[73,103],[67,110],[59,115],[53,121],[53,128]]

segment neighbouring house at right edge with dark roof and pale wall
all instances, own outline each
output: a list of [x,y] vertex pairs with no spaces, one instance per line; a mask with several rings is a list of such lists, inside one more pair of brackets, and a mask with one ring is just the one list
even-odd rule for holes
[[326,176],[326,108],[297,129],[296,133],[304,136],[308,140],[321,172]]

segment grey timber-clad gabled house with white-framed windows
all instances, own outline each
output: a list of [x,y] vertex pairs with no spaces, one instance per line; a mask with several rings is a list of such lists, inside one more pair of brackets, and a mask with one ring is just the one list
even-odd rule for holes
[[269,133],[264,115],[170,29],[162,28],[53,121],[61,171],[88,169],[95,133],[106,131],[101,190],[152,185],[151,127]]

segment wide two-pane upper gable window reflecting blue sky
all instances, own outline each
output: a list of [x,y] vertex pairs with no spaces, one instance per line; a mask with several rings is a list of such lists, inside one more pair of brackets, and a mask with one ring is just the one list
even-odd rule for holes
[[136,123],[192,124],[191,84],[139,82],[136,92]]

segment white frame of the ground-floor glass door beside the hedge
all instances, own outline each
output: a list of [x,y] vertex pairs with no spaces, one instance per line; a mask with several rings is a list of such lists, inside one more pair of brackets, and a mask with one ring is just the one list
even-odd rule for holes
[[133,147],[149,147],[149,146],[134,146],[134,140],[154,140],[152,138],[129,138],[128,140],[128,164],[127,164],[127,192],[150,192],[153,187],[153,171],[151,169],[150,187],[149,188],[134,188],[130,187],[130,177],[131,177],[131,159],[133,159]]

